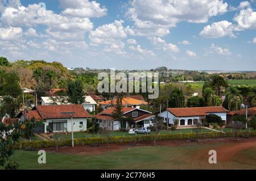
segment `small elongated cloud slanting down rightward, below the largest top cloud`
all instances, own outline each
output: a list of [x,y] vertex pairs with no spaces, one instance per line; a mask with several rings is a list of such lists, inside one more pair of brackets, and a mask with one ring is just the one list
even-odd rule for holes
[[172,52],[179,52],[179,48],[171,43],[166,43],[165,40],[161,39],[160,37],[151,36],[148,37],[152,44],[156,46],[157,49],[163,49],[164,51],[171,50]]

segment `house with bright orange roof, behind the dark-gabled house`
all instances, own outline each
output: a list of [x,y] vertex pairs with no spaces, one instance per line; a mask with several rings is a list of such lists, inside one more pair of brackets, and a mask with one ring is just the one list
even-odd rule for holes
[[[99,102],[100,106],[103,110],[107,110],[108,108],[111,108],[117,104],[117,100],[106,100],[103,102]],[[141,105],[147,105],[147,102],[144,102],[143,100],[133,99],[133,98],[123,98],[122,99],[122,106],[124,107],[136,107],[140,108]]]

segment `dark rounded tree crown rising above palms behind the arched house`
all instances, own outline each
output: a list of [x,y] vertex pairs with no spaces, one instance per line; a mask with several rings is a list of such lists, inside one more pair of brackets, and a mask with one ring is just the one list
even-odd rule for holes
[[226,87],[228,87],[228,83],[219,75],[213,75],[209,85],[218,96],[221,96]]

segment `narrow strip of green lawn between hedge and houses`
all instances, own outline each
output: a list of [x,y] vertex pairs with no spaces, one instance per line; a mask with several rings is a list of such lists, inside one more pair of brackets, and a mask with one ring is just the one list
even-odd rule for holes
[[[182,133],[193,133],[195,132],[194,129],[176,129],[175,131],[170,131],[170,130],[162,130],[159,132],[159,134],[182,134]],[[209,129],[204,129],[201,128],[200,132],[205,133],[205,132],[212,132]],[[101,133],[101,134],[90,134],[90,133],[73,133],[74,138],[86,138],[86,137],[102,137],[106,136],[106,133]],[[150,134],[155,134],[155,132],[151,132]],[[143,134],[137,134],[137,136],[141,136]],[[110,136],[135,136],[135,134],[129,134],[128,132],[121,132],[121,131],[112,131],[110,132]],[[71,133],[69,134],[55,134],[53,136],[53,139],[58,140],[64,140],[64,139],[71,139]]]

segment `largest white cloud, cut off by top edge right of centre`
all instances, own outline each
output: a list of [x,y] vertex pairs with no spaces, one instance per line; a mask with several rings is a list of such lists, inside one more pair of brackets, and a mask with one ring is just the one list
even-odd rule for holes
[[164,36],[170,33],[171,27],[176,27],[181,21],[206,23],[210,16],[224,14],[227,11],[228,4],[222,0],[158,0],[147,3],[144,0],[133,0],[126,15],[133,20],[137,35]]

